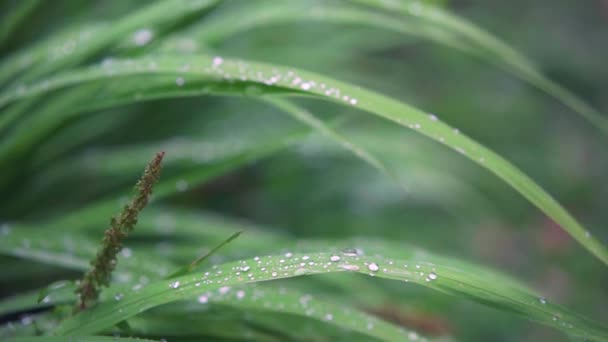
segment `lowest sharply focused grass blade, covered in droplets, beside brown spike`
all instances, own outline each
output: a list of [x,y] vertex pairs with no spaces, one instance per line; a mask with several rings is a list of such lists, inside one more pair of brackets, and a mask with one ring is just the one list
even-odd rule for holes
[[[540,301],[519,288],[483,274],[469,273],[440,264],[407,259],[385,259],[344,253],[306,253],[288,256],[266,256],[214,266],[208,272],[196,273],[171,281],[159,281],[139,290],[125,291],[120,301],[103,302],[63,321],[55,331],[58,335],[80,335],[102,331],[122,320],[153,307],[205,295],[225,286],[290,278],[302,275],[356,272],[379,278],[412,282],[432,289],[468,297],[482,303],[527,316],[571,336],[602,340],[608,337],[605,328],[567,313],[552,303]],[[303,265],[302,265],[303,264]],[[108,292],[112,292],[110,289]],[[374,329],[372,329],[374,330]]]

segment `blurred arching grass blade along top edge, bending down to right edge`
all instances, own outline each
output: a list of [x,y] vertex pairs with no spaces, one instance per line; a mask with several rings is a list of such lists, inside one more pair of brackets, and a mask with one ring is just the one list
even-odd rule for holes
[[[439,44],[454,48],[473,56],[485,59],[507,72],[514,74],[523,81],[530,83],[545,93],[566,105],[574,112],[583,116],[591,124],[608,134],[608,118],[596,109],[579,99],[572,92],[544,76],[539,69],[526,57],[511,48],[508,44],[492,36],[483,29],[475,26],[454,14],[437,6],[420,1],[381,1],[381,0],[350,0],[390,13],[399,13],[408,20],[395,19],[382,13],[365,12],[349,7],[339,7],[332,4],[315,3],[302,6],[298,3],[277,5],[243,6],[230,8],[203,22],[200,27],[190,30],[194,41],[203,40],[207,43],[221,41],[237,33],[245,32],[261,25],[289,23],[295,20],[317,20],[329,23],[363,24],[402,34],[418,36],[435,41]],[[248,13],[244,20],[232,22],[226,16],[234,12]],[[192,39],[192,38],[190,38]],[[179,46],[174,39],[168,38],[162,50],[175,51]]]

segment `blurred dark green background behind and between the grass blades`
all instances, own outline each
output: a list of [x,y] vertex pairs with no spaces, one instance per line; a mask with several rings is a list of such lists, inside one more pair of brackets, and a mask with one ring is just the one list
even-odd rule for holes
[[[14,3],[2,2],[0,12]],[[112,22],[145,3],[43,2],[3,42],[1,54],[8,56],[68,24]],[[331,1],[310,1],[315,3]],[[608,1],[436,3],[502,38],[545,75],[608,113]],[[228,1],[205,17],[222,18],[241,5]],[[193,25],[197,20],[191,20]],[[600,241],[608,241],[607,138],[553,98],[495,66],[392,32],[307,21],[254,28],[202,49],[315,71],[434,113],[513,162],[591,227]],[[139,53],[128,37],[119,51]],[[606,321],[604,266],[502,181],[444,146],[355,108],[305,99],[298,103],[324,119],[346,116],[338,130],[375,152],[408,192],[334,142],[314,135],[207,184],[176,185],[183,191],[162,203],[214,211],[295,238],[404,241],[501,270],[552,302]],[[0,217],[7,222],[44,221],[131,186],[141,169],[121,168],[119,162],[107,165],[104,156],[133,146],[150,145],[151,152],[163,149],[170,156],[172,147],[192,139],[206,142],[202,159],[213,158],[232,144],[271,139],[300,125],[253,98],[234,97],[158,100],[82,116],[13,165],[19,174],[1,190]],[[149,156],[137,158],[143,168]],[[169,165],[167,174],[179,174],[180,167]],[[99,222],[100,227],[105,224]],[[12,257],[2,257],[0,265],[12,274],[0,277],[3,297],[74,276],[47,266],[45,271],[24,272],[38,270],[39,264]],[[422,332],[449,333],[465,341],[564,338],[463,298],[369,281],[385,287],[386,297],[367,309]],[[286,283],[298,286],[297,279]],[[358,305],[357,297],[364,294],[340,296]]]

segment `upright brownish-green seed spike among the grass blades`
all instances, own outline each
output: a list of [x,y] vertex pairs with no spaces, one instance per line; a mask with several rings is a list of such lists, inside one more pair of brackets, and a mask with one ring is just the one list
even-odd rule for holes
[[152,187],[160,177],[162,161],[165,152],[159,152],[150,161],[143,175],[135,185],[135,195],[129,204],[126,204],[122,212],[110,220],[110,227],[105,231],[100,249],[91,261],[92,268],[87,271],[79,282],[76,293],[78,294],[78,310],[86,309],[91,303],[99,298],[101,287],[110,285],[112,271],[118,263],[118,253],[123,248],[123,241],[137,224],[139,213],[146,207]]

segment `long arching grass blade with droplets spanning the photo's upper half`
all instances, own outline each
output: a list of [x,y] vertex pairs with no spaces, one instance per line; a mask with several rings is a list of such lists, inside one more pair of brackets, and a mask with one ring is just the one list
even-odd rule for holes
[[[155,65],[153,70],[148,68],[150,63],[154,63]],[[184,65],[188,65],[188,70],[183,69]],[[604,264],[608,264],[608,249],[585,230],[551,195],[498,154],[461,134],[459,130],[441,122],[434,115],[424,113],[412,106],[372,91],[311,72],[262,63],[224,60],[221,57],[207,55],[187,58],[174,56],[143,58],[137,61],[117,61],[109,66],[94,66],[75,72],[68,72],[43,83],[35,84],[25,93],[15,91],[5,92],[0,95],[0,107],[20,99],[44,94],[50,90],[70,85],[86,84],[87,82],[104,82],[104,80],[119,77],[135,78],[138,75],[150,74],[162,76],[155,79],[155,81],[161,84],[164,83],[165,86],[168,86],[167,83],[174,84],[175,77],[181,78],[185,83],[193,83],[202,88],[202,90],[194,93],[196,95],[201,93],[220,93],[241,96],[244,94],[263,96],[266,93],[276,94],[278,89],[281,93],[312,96],[343,105],[354,106],[396,122],[404,127],[411,128],[416,132],[445,144],[447,147],[493,172],[557,222],[589,252]],[[149,81],[149,83],[151,83],[153,89],[158,87],[157,84],[154,84],[155,82]],[[178,82],[176,86],[177,90],[164,93],[164,95],[177,96],[180,94],[179,88],[183,85],[183,83]],[[185,91],[181,95],[192,94],[192,91]],[[153,93],[153,96],[162,95]]]

